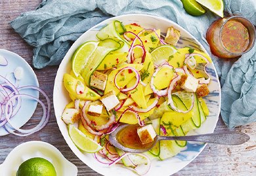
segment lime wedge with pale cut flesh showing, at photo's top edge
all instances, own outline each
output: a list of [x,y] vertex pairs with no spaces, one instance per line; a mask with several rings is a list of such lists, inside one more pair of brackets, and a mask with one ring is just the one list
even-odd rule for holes
[[223,0],[196,0],[200,5],[203,5],[207,9],[211,10],[211,12],[221,16],[223,18]]

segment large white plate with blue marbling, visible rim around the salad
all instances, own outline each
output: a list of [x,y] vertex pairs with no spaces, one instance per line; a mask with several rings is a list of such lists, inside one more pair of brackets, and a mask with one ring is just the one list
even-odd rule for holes
[[[70,139],[68,135],[68,128],[66,124],[61,120],[61,115],[64,110],[64,107],[67,103],[70,102],[70,98],[68,97],[68,93],[64,88],[63,85],[63,75],[64,73],[70,73],[71,70],[71,58],[74,54],[75,50],[78,48],[79,45],[85,43],[85,41],[96,40],[96,33],[99,29],[106,24],[109,24],[113,20],[119,20],[123,22],[123,24],[131,24],[136,22],[140,24],[142,27],[146,28],[158,28],[161,31],[167,31],[167,27],[173,26],[176,29],[181,31],[181,39],[177,44],[177,48],[182,48],[184,46],[189,46],[190,48],[195,48],[197,50],[202,50],[203,52],[207,53],[206,50],[203,48],[202,44],[200,44],[188,31],[183,29],[175,22],[167,20],[165,18],[160,18],[156,16],[150,16],[146,14],[128,14],[123,16],[117,16],[114,18],[110,18],[101,22],[100,24],[92,27],[87,32],[85,32],[75,43],[72,45],[68,53],[60,63],[60,67],[58,69],[58,73],[56,75],[55,83],[54,83],[54,91],[53,91],[53,103],[54,103],[54,111],[56,115],[56,120],[58,126],[60,128],[60,132],[62,133],[66,143],[75,155],[87,166],[91,167],[96,172],[102,175],[136,175],[133,171],[129,171],[129,169],[125,169],[119,166],[106,166],[104,164],[100,164],[95,160],[93,154],[87,154],[81,152],[77,147],[75,147],[74,143]],[[195,131],[195,133],[211,133],[214,131],[215,126],[217,124],[217,120],[219,118],[219,113],[221,110],[221,86],[219,84],[219,79],[217,76],[216,69],[213,63],[209,64],[207,67],[208,73],[211,75],[211,83],[209,84],[210,94],[205,97],[205,101],[207,106],[209,107],[209,116],[207,120],[202,124],[202,126]],[[202,150],[204,149],[205,145],[198,145],[195,143],[188,143],[185,150],[180,152],[177,156],[173,158],[169,158],[164,161],[154,160],[152,161],[152,166],[150,171],[146,175],[171,175],[176,173],[177,171],[181,170],[183,167],[188,165]]]

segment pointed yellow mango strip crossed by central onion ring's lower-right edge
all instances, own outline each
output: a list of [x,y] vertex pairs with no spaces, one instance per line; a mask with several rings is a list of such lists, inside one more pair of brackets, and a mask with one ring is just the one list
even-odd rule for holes
[[[135,84],[136,78],[133,78],[128,84],[127,87],[131,87]],[[138,84],[137,88],[134,90],[131,90],[128,92],[128,94],[131,96],[131,98],[135,101],[135,103],[138,105],[139,108],[146,109],[146,100],[145,96],[143,94],[143,86],[141,84]]]

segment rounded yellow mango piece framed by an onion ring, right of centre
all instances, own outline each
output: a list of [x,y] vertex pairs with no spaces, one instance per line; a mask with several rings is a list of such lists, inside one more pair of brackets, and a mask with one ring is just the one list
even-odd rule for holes
[[156,77],[154,78],[154,86],[156,89],[162,90],[170,85],[172,79],[173,70],[171,70],[169,67],[161,67],[160,71],[158,71]]

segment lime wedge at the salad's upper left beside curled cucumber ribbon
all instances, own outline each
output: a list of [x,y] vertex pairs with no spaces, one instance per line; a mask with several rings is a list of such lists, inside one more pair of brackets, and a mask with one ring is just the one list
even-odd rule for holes
[[80,71],[83,69],[88,58],[93,54],[98,46],[98,42],[89,41],[87,43],[81,44],[79,48],[75,51],[72,57],[72,70],[75,77],[78,77]]

